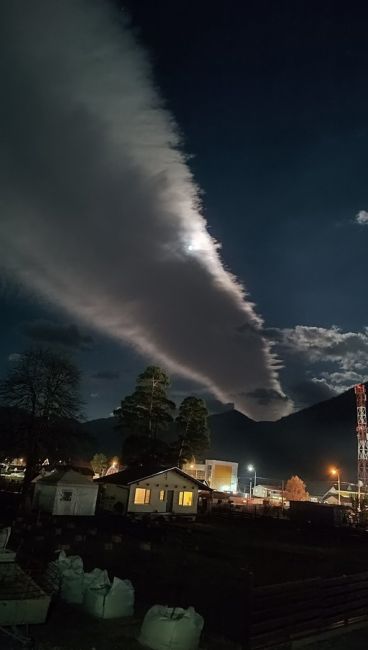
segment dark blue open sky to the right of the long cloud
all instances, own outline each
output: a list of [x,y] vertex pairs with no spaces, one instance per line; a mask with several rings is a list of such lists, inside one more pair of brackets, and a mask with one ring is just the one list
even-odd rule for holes
[[266,323],[360,328],[367,240],[350,226],[368,205],[367,8],[129,8],[194,154],[210,228]]

